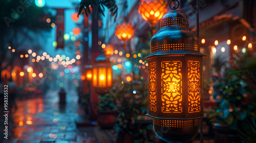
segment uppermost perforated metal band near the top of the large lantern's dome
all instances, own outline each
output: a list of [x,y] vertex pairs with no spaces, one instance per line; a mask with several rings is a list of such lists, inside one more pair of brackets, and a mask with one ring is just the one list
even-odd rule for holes
[[170,17],[161,20],[160,28],[173,26],[183,26],[188,28],[188,20],[183,17]]

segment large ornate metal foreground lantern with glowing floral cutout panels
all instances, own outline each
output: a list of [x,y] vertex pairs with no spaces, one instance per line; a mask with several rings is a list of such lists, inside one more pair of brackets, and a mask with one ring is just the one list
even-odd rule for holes
[[[170,1],[170,3],[173,1]],[[178,1],[177,1],[178,2]],[[170,5],[169,3],[169,5]],[[179,3],[179,2],[178,2]],[[148,116],[167,142],[186,142],[199,129],[203,107],[203,58],[199,39],[178,7],[166,13],[151,39],[148,59]]]

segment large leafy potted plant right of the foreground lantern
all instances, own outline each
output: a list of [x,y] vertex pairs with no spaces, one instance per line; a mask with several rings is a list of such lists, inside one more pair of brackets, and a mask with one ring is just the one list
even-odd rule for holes
[[[220,74],[221,78],[214,84],[216,97],[221,102],[219,106],[212,108],[214,112],[208,117],[216,132],[216,142],[240,142],[241,139],[250,137],[253,140],[256,131],[247,132],[245,127],[255,128],[250,126],[255,123],[256,118],[256,104],[253,100],[253,89],[256,87],[255,66],[256,58],[252,58],[250,52],[238,53],[234,55],[230,68],[225,68]],[[253,128],[248,130],[253,131]]]

